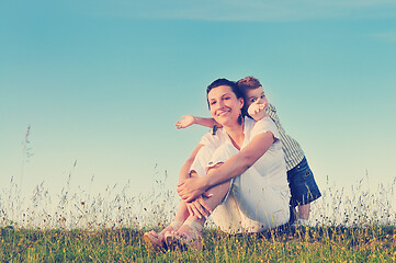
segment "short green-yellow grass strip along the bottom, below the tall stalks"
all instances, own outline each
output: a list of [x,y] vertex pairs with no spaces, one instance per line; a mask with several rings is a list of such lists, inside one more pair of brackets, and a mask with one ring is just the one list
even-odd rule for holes
[[396,228],[301,227],[228,236],[204,231],[204,250],[155,252],[144,230],[1,228],[1,262],[395,262]]

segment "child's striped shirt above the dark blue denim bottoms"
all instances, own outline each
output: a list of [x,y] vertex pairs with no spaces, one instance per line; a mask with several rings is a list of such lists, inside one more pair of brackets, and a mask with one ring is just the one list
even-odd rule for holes
[[269,103],[265,108],[265,113],[270,115],[272,121],[275,123],[279,133],[281,134],[281,141],[283,145],[282,150],[284,152],[284,159],[286,161],[286,169],[287,171],[292,170],[303,160],[305,153],[298,142],[291,136],[288,136],[286,132],[284,132],[284,128],[279,121],[276,108]]

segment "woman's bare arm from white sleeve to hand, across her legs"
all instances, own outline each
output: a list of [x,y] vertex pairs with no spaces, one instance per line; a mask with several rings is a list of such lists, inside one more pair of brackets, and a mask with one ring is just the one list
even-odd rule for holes
[[178,193],[184,202],[190,202],[210,187],[224,183],[248,170],[274,142],[271,132],[258,134],[239,153],[222,165],[212,169],[201,178],[188,179],[178,185]]

